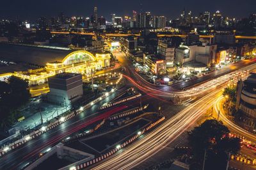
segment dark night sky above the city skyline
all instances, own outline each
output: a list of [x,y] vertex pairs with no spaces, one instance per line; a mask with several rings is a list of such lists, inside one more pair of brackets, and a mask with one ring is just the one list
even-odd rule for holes
[[111,13],[123,16],[132,15],[132,10],[140,11],[140,2],[143,11],[171,19],[177,18],[184,8],[191,10],[193,15],[198,15],[200,11],[212,13],[220,10],[225,16],[237,18],[256,12],[256,0],[1,0],[0,18],[35,20],[40,16],[58,16],[61,11],[68,17],[89,17],[93,6],[97,6],[98,15],[109,20]]

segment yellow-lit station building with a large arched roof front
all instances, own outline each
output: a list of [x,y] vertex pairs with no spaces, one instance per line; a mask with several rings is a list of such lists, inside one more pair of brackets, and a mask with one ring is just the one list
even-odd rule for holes
[[69,53],[63,60],[49,62],[44,68],[29,69],[13,73],[19,78],[28,79],[29,85],[38,85],[48,81],[47,78],[58,73],[80,73],[88,77],[92,72],[99,71],[110,66],[110,53],[92,53],[79,50]]

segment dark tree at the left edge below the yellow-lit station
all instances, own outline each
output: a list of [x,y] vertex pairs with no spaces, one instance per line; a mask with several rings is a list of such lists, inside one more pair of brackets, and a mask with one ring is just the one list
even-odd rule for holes
[[17,109],[30,98],[28,81],[15,76],[0,82],[0,127],[6,129],[18,118]]

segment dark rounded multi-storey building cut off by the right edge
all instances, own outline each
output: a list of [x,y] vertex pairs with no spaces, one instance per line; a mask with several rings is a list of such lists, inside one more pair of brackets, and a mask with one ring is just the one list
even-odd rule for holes
[[237,121],[249,131],[256,129],[256,73],[251,73],[247,80],[237,82],[236,115]]

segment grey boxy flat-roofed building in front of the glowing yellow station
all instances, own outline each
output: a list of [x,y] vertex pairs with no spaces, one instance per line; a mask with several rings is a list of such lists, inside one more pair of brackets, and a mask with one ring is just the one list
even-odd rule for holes
[[61,106],[68,106],[83,96],[83,80],[81,74],[60,73],[48,79],[50,88],[47,100]]

